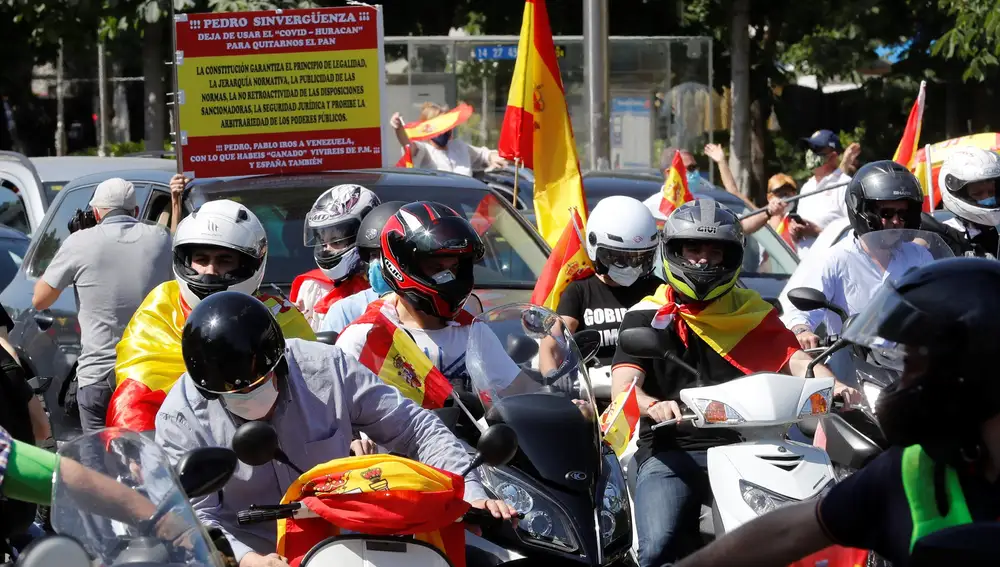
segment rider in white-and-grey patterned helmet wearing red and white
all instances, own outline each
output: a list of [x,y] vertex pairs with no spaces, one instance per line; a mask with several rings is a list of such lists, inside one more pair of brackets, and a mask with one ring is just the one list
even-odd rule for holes
[[292,282],[291,300],[314,330],[337,301],[369,287],[358,253],[358,228],[379,205],[375,193],[360,185],[337,185],[316,199],[303,224],[302,242],[313,249],[317,269]]

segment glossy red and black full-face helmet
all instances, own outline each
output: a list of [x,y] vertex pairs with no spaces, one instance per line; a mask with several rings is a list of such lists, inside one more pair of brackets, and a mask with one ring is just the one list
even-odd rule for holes
[[[472,267],[485,246],[465,217],[430,201],[404,205],[382,229],[382,277],[414,307],[453,319],[472,293]],[[457,258],[450,271],[427,274],[421,262]]]

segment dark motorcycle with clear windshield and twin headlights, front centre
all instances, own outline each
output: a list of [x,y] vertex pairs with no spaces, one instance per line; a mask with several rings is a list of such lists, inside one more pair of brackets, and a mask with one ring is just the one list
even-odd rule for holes
[[[559,321],[542,307],[511,304],[473,324],[466,364],[485,409],[479,426],[506,424],[520,440],[509,464],[482,467],[483,484],[524,519],[516,527],[486,529],[488,541],[472,545],[494,565],[509,558],[634,564],[628,489],[614,451],[602,441],[585,369],[599,336],[570,336]],[[498,339],[520,368],[511,384],[496,382],[490,367]]]

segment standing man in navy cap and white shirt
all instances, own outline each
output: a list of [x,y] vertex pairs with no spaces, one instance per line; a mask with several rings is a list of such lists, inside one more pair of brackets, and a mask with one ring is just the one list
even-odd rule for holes
[[806,167],[813,172],[812,177],[802,185],[801,193],[806,195],[822,191],[831,185],[843,186],[799,201],[796,213],[805,222],[791,221],[789,231],[798,245],[800,256],[805,255],[828,224],[847,217],[847,182],[851,180],[840,169],[840,154],[844,148],[836,134],[830,130],[819,130],[808,138],[802,138],[801,142],[806,151]]

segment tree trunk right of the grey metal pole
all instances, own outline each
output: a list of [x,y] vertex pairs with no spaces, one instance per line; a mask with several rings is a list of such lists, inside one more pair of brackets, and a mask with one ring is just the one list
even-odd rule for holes
[[733,121],[729,168],[740,192],[750,190],[750,0],[733,0],[731,39]]

